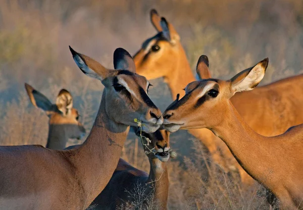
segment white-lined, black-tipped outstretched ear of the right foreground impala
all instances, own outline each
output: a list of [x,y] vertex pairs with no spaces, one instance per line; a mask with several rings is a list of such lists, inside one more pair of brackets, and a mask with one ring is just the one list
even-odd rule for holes
[[245,69],[230,79],[232,93],[249,91],[259,85],[265,75],[268,58],[260,61],[254,67]]

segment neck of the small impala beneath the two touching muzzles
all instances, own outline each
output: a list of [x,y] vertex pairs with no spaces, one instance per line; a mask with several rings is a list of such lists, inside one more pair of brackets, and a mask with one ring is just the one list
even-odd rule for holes
[[148,160],[150,163],[150,171],[147,183],[155,189],[154,195],[159,207],[166,209],[169,187],[166,162],[161,162],[158,158],[148,158]]

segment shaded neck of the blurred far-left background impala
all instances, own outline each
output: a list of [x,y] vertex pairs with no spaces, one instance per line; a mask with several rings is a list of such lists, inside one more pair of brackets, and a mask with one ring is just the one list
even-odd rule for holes
[[65,132],[62,130],[61,124],[50,124],[48,130],[48,137],[46,148],[48,149],[64,149],[68,141]]

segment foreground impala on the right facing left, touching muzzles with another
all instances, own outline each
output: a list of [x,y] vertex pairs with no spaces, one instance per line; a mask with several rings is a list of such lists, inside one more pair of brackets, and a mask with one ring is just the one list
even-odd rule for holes
[[264,59],[227,81],[211,78],[189,83],[185,96],[166,109],[164,127],[170,132],[210,129],[225,142],[243,169],[278,197],[282,207],[302,208],[303,124],[279,136],[261,136],[229,100],[236,92],[254,89],[267,66],[268,59]]

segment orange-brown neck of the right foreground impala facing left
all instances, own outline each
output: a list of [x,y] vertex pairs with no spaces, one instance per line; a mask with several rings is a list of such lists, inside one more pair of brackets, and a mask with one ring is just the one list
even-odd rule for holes
[[[253,131],[228,101],[224,120],[211,131],[221,138],[239,164],[252,178],[266,184],[272,166],[271,161],[279,150],[271,144],[270,138]],[[267,173],[268,172],[268,173]]]

